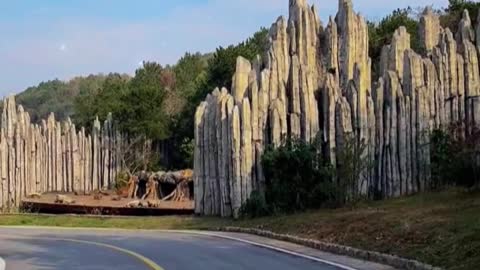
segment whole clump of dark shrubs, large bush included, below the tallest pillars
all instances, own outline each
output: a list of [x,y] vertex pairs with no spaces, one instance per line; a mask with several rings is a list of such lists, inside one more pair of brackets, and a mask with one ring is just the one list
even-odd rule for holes
[[322,158],[320,145],[318,139],[313,143],[289,139],[278,148],[269,147],[262,157],[265,197],[253,193],[241,209],[243,216],[339,207],[361,199],[358,183],[373,168],[365,155],[366,144],[347,134],[336,169]]

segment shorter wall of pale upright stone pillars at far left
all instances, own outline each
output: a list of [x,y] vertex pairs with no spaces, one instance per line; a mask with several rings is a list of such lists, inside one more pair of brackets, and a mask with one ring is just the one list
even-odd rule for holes
[[0,210],[17,207],[30,194],[90,192],[111,187],[122,169],[122,137],[111,116],[92,134],[53,114],[32,124],[15,98],[3,101],[0,128]]

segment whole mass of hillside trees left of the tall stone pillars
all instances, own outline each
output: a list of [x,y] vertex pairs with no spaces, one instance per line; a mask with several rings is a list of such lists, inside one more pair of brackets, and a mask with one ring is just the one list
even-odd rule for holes
[[191,167],[196,107],[215,87],[230,88],[236,58],[262,54],[268,46],[267,33],[261,29],[245,42],[212,54],[187,53],[173,67],[146,62],[133,78],[109,74],[42,83],[18,100],[34,121],[53,111],[58,119],[71,116],[77,126],[87,129],[95,117],[103,121],[111,112],[123,133],[145,140],[168,139],[175,167]]

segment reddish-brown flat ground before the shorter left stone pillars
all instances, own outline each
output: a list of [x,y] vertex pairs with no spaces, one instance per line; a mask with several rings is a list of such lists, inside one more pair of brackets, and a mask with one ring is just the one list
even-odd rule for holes
[[[40,198],[25,198],[23,202],[27,203],[44,203],[44,204],[55,204],[56,196],[59,193],[47,193],[42,194]],[[94,198],[94,195],[75,195],[73,193],[62,193],[62,195],[67,195],[69,198],[73,199],[75,203],[74,206],[87,206],[87,207],[118,207],[125,208],[127,204],[136,199],[126,199],[120,198],[119,201],[113,200],[114,197],[117,197],[114,192],[108,192],[108,195],[101,195],[101,198]],[[159,202],[158,209],[193,209],[193,201],[184,201],[184,202]]]

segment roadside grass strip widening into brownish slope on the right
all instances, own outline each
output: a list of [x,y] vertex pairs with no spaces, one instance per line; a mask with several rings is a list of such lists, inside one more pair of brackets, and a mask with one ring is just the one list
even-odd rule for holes
[[396,254],[447,269],[480,266],[480,194],[459,191],[255,220],[0,216],[0,225],[208,229],[244,226]]

